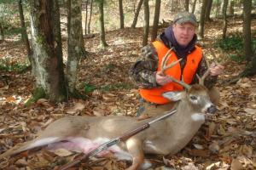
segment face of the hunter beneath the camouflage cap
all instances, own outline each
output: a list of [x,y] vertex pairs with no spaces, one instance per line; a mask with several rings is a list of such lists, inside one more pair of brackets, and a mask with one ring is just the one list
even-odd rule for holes
[[195,26],[190,22],[173,25],[174,37],[177,43],[186,47],[195,35]]

